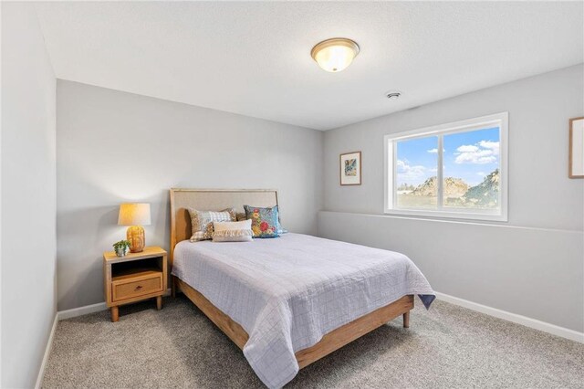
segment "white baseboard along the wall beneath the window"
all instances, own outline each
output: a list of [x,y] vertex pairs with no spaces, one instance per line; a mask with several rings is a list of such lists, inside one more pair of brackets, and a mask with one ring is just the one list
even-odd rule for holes
[[478,304],[469,300],[459,299],[457,297],[440,292],[436,292],[436,298],[438,300],[450,302],[451,304],[458,305],[469,310],[476,310],[477,312],[485,313],[489,316],[494,316],[495,318],[503,319],[505,321],[512,321],[516,324],[521,324],[535,330],[561,336],[562,338],[569,339],[570,341],[584,343],[584,332],[569,330],[564,327],[559,327],[555,324],[547,323],[546,321],[537,321],[536,319],[531,319],[527,316],[517,315],[516,313],[507,312],[506,310],[497,310],[496,308],[487,307],[486,305]]

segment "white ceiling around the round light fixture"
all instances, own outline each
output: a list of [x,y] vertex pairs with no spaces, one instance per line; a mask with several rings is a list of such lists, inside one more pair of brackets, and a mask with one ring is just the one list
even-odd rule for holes
[[[58,79],[328,130],[584,61],[582,2],[38,3]],[[310,49],[350,37],[328,73]],[[386,99],[397,89],[400,100]]]

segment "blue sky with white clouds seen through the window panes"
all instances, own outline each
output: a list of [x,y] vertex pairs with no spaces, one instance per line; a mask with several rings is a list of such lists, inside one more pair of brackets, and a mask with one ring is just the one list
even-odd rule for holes
[[[422,184],[436,175],[437,147],[437,136],[398,142],[398,185]],[[499,165],[498,127],[444,135],[443,147],[444,177],[475,185]]]

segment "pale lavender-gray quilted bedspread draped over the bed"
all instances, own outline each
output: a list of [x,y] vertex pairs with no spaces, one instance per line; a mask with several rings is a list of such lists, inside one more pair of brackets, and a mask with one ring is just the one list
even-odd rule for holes
[[294,353],[327,332],[406,294],[434,295],[402,254],[299,234],[183,241],[172,274],[241,324],[245,358],[271,388],[292,380]]

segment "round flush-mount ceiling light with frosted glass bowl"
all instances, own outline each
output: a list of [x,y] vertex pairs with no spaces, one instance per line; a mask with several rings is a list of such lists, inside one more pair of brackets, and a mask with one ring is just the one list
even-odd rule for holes
[[310,51],[318,66],[332,73],[347,68],[358,54],[359,45],[346,37],[323,40]]

